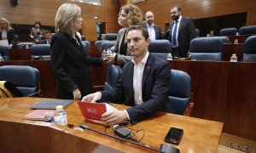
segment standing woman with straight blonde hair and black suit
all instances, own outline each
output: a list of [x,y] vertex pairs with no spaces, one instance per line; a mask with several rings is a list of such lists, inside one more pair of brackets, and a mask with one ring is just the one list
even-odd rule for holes
[[57,99],[81,99],[93,92],[89,65],[102,59],[89,57],[76,31],[82,28],[81,8],[64,3],[55,15],[55,31],[50,41],[50,67],[56,78]]

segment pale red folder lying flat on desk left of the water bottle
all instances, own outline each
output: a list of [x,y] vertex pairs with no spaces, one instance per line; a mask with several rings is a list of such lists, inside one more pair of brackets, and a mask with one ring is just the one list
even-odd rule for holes
[[23,117],[28,120],[44,120],[44,116],[54,116],[54,115],[55,115],[55,110],[35,110],[26,114],[26,116],[23,116]]

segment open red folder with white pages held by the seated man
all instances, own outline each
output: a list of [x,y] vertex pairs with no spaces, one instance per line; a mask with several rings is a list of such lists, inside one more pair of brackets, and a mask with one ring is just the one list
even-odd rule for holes
[[117,111],[112,105],[107,103],[90,103],[78,101],[79,108],[84,118],[101,121],[102,114],[107,111]]

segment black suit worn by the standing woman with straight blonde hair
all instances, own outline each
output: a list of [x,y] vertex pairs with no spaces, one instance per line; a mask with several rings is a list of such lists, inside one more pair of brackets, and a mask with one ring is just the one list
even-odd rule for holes
[[73,99],[73,90],[79,88],[82,97],[92,93],[89,65],[102,65],[102,59],[88,56],[81,40],[78,42],[56,32],[50,42],[50,67],[56,77],[56,98]]

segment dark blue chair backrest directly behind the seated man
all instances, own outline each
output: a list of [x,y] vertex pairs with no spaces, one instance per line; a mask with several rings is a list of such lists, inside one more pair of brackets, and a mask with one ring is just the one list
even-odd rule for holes
[[191,95],[191,78],[184,71],[171,71],[171,82],[168,96],[167,112],[183,115],[189,105]]

